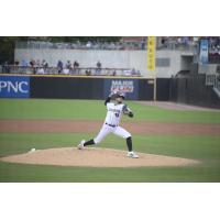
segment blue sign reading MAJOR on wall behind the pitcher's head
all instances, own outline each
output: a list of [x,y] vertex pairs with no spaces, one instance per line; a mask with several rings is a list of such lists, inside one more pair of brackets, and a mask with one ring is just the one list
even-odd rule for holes
[[125,99],[139,99],[139,80],[138,79],[105,79],[103,98],[112,91],[122,91]]

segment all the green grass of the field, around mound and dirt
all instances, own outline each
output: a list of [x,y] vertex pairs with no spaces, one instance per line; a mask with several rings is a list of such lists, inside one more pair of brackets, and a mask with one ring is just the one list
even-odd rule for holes
[[[220,112],[175,111],[128,101],[133,121],[220,123]],[[106,108],[98,100],[0,99],[2,119],[103,120]],[[35,148],[78,144],[94,133],[0,133],[0,156]],[[134,150],[143,153],[199,160],[190,167],[91,168],[23,165],[0,162],[0,182],[220,182],[220,136],[133,135]],[[110,135],[99,147],[127,150],[122,139]]]

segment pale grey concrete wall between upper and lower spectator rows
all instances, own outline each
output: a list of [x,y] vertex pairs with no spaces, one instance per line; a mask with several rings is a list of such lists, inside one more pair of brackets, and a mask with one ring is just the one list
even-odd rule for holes
[[[80,67],[96,67],[100,61],[102,67],[107,68],[135,68],[144,77],[152,77],[146,69],[146,51],[84,51],[84,50],[15,50],[14,59],[45,59],[50,66],[56,66],[57,61],[78,61]],[[169,59],[169,65],[162,65],[157,62],[156,76],[169,78],[182,70],[182,52],[179,51],[157,51],[157,59]],[[161,63],[161,64],[160,64]]]

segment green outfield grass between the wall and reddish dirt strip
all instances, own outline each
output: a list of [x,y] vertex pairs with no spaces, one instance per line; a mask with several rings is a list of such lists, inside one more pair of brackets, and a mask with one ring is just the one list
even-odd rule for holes
[[[220,111],[175,111],[128,101],[135,120],[220,123]],[[103,120],[102,100],[0,99],[0,119]],[[124,118],[123,120],[133,120]]]

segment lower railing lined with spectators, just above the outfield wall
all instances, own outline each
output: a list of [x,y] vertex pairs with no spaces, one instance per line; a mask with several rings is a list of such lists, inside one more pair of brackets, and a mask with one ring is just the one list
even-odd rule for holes
[[24,67],[7,65],[0,66],[1,74],[23,75],[78,75],[78,76],[134,76],[141,77],[140,72],[130,68],[57,68],[57,67]]

